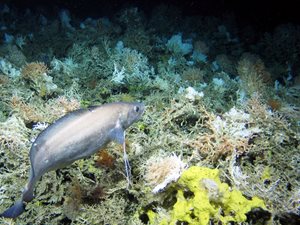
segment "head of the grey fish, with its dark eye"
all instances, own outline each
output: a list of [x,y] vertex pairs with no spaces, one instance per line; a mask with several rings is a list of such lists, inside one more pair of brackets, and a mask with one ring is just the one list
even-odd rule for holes
[[144,113],[145,105],[140,102],[123,103],[120,123],[124,129],[138,121]]

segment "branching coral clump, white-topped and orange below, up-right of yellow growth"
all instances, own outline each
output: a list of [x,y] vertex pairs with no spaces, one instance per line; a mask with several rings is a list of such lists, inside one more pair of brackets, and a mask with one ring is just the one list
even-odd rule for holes
[[212,161],[230,156],[234,151],[246,152],[250,138],[260,132],[260,128],[251,125],[250,114],[235,108],[222,118],[210,115],[206,126],[208,130],[188,144]]

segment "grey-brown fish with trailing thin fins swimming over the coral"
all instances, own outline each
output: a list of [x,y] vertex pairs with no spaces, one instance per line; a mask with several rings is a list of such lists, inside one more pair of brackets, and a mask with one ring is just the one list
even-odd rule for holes
[[30,176],[21,199],[0,216],[16,218],[21,215],[26,204],[34,198],[37,181],[45,173],[87,158],[111,141],[125,146],[125,130],[141,118],[144,109],[140,102],[114,102],[79,109],[56,120],[31,146]]

